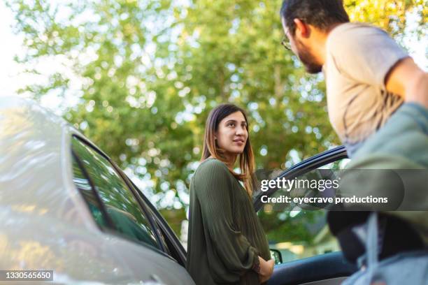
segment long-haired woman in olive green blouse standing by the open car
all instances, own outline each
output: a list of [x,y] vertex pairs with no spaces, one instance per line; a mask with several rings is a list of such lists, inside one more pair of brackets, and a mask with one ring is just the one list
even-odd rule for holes
[[[241,174],[233,170],[238,156]],[[241,108],[211,111],[201,161],[190,183],[187,270],[197,285],[266,282],[273,260],[252,207],[254,159]]]

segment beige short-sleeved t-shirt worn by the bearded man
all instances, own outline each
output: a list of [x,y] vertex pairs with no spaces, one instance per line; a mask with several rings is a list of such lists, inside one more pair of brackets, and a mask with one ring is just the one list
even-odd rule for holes
[[333,29],[326,48],[329,119],[352,154],[403,103],[386,92],[385,76],[408,55],[385,31],[360,23]]

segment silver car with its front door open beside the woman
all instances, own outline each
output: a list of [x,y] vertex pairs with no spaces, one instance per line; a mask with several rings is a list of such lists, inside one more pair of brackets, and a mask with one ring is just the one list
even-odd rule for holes
[[[58,284],[194,284],[185,270],[186,251],[162,215],[73,126],[13,96],[0,97],[0,130],[1,270],[53,270]],[[293,179],[347,159],[344,147],[336,147],[279,177]],[[255,210],[271,235],[276,230],[263,224],[264,217],[280,223],[283,213],[269,212],[261,197],[255,196]],[[321,244],[325,221],[317,228]],[[287,235],[280,240],[280,234],[271,241],[277,264],[269,284],[339,284],[357,270],[332,237],[299,251],[309,247]]]

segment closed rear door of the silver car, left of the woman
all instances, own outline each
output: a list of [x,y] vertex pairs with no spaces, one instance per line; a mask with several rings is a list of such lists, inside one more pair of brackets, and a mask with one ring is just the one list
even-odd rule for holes
[[162,235],[156,210],[124,173],[84,138],[73,136],[72,145],[74,168],[82,170],[78,189],[110,247],[132,272],[133,282],[194,284],[183,263],[172,256],[175,251]]

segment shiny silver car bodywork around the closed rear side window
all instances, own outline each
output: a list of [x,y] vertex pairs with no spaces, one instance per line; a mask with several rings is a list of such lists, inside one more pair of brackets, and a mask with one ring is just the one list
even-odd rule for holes
[[172,258],[100,230],[73,183],[72,135],[83,137],[37,103],[0,97],[0,270],[54,270],[57,284],[194,284]]

